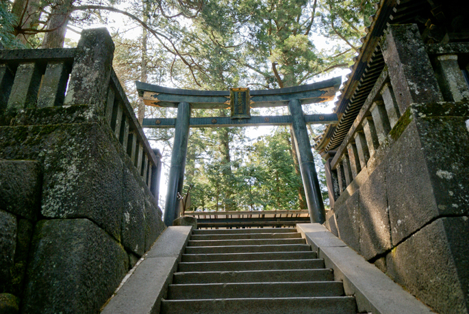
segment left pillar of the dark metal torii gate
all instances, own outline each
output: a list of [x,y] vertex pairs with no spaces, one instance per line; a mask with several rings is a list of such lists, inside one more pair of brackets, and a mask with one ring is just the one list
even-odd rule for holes
[[189,122],[190,105],[188,103],[179,103],[169,169],[168,192],[166,193],[166,205],[164,207],[164,224],[166,226],[172,226],[173,220],[179,216],[177,212],[177,193],[182,194],[188,152]]

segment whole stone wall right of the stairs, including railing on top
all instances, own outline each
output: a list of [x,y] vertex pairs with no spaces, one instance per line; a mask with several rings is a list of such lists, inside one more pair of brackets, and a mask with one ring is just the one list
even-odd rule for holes
[[388,66],[329,160],[339,192],[326,225],[437,313],[469,313],[469,90],[458,55],[429,55],[413,25],[391,26],[381,49]]

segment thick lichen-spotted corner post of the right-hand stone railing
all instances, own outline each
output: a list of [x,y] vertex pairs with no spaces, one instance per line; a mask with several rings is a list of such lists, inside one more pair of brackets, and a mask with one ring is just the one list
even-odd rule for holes
[[411,103],[443,101],[417,25],[390,25],[381,50],[400,112]]

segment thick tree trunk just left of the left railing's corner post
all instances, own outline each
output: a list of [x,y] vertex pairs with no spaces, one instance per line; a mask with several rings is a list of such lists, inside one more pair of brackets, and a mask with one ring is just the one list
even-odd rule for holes
[[68,24],[68,18],[75,0],[56,0],[49,16],[47,29],[55,29],[45,33],[42,41],[42,48],[62,48],[64,47],[65,32]]

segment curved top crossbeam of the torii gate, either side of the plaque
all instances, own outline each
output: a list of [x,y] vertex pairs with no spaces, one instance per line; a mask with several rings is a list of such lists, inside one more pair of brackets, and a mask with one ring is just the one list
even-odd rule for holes
[[[333,100],[339,89],[341,77],[326,81],[279,88],[275,90],[251,90],[250,107],[278,107],[288,105],[288,101],[298,99],[302,105],[322,103]],[[229,108],[229,91],[215,90],[182,90],[165,88],[136,81],[139,96],[145,105],[157,107],[177,107],[179,103],[190,103],[192,109],[225,109]]]

